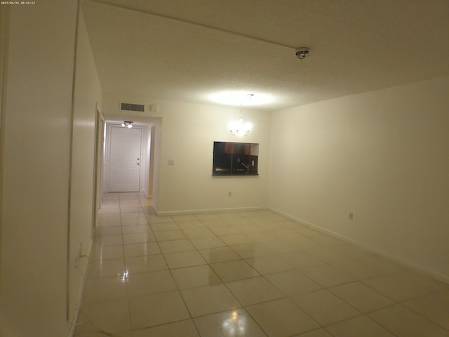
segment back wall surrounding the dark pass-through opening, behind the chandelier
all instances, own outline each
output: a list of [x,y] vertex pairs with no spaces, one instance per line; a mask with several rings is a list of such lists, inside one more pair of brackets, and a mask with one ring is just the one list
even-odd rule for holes
[[[106,119],[109,115],[116,117],[120,99],[117,95],[105,95],[103,113]],[[156,143],[160,137],[161,147],[159,160],[155,160],[155,166],[159,167],[154,169],[153,197],[159,214],[252,209],[267,205],[269,112],[243,110],[243,119],[252,121],[254,127],[245,138],[236,138],[227,130],[227,123],[239,118],[239,107],[142,97],[126,97],[123,101],[157,105],[157,112],[144,115],[162,119],[161,128],[156,127]],[[127,114],[134,121],[136,115]],[[260,176],[213,177],[214,141],[260,143]],[[175,165],[169,166],[168,159],[174,159]],[[229,191],[232,197],[227,196]]]

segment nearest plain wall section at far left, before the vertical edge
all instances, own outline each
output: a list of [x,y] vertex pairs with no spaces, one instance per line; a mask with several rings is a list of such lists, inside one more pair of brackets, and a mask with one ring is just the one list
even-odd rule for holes
[[76,0],[11,6],[0,336],[67,336]]

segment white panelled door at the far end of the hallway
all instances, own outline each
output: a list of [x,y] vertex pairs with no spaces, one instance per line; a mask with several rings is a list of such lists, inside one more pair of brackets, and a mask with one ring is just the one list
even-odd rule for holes
[[139,192],[142,129],[112,126],[109,137],[109,192]]

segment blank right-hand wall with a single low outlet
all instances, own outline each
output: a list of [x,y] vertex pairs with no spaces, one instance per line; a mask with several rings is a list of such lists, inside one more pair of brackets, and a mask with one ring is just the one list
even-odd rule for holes
[[448,93],[443,77],[275,112],[269,206],[449,281]]

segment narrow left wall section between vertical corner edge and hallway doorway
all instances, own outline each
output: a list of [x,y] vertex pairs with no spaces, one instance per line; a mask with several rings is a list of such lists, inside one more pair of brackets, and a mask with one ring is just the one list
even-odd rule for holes
[[[69,221],[69,319],[75,322],[81,301],[83,275],[88,267],[87,256],[93,235],[95,115],[102,92],[83,12],[79,15],[76,45],[76,74],[72,122],[72,171],[70,183]],[[101,135],[102,136],[102,135]],[[78,262],[76,262],[78,259]]]

